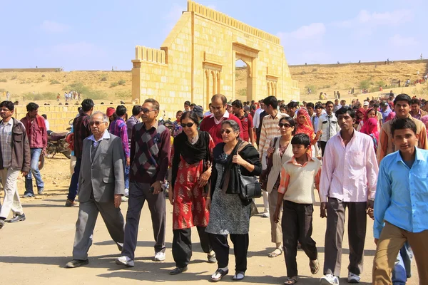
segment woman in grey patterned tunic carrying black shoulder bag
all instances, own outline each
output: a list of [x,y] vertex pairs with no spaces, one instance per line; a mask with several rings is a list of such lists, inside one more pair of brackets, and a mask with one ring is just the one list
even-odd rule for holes
[[240,199],[239,177],[260,175],[262,165],[258,151],[250,143],[241,141],[239,133],[238,123],[225,120],[221,125],[223,142],[213,150],[213,174],[207,198],[210,222],[206,232],[218,260],[218,269],[211,281],[220,281],[229,272],[228,235],[235,253],[233,280],[244,279],[247,270],[251,201]]

